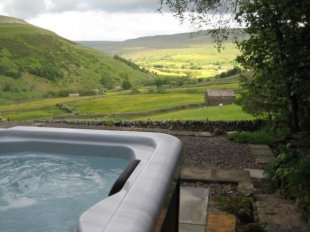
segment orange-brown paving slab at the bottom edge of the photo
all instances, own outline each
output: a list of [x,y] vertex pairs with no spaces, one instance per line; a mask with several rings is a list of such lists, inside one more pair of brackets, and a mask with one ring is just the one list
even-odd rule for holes
[[236,217],[231,214],[208,216],[207,232],[235,232]]

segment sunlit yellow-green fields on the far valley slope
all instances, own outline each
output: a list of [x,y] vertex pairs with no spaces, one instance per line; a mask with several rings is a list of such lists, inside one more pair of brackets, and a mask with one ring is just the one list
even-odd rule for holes
[[172,49],[123,49],[122,56],[160,76],[208,78],[232,69],[239,51],[233,43],[221,52],[213,44]]

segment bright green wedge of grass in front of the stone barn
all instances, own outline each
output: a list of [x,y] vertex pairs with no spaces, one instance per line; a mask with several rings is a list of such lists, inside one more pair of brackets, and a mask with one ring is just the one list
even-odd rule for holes
[[209,106],[199,109],[178,110],[170,113],[157,114],[147,117],[137,117],[134,120],[210,120],[232,121],[252,120],[253,116],[242,111],[240,106]]

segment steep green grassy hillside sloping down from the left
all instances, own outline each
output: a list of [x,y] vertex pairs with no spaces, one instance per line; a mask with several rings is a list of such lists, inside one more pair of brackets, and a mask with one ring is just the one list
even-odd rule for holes
[[123,62],[23,20],[0,16],[0,104],[37,97],[89,94],[141,84],[148,76]]

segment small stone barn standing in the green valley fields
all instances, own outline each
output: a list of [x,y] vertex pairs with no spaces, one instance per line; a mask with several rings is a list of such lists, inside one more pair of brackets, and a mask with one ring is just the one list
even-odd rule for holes
[[205,94],[205,104],[207,106],[218,106],[232,104],[236,94],[232,90],[207,90]]

